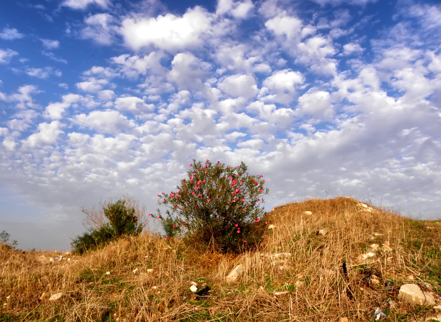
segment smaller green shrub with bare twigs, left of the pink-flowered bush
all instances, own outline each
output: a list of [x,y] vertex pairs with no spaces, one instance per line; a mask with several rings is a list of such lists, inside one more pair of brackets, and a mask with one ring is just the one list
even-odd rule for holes
[[95,228],[73,240],[73,251],[83,254],[88,250],[97,249],[122,236],[137,236],[143,230],[140,223],[140,211],[133,206],[131,198],[123,198],[113,203],[104,203],[100,212],[85,210],[87,222],[94,223]]

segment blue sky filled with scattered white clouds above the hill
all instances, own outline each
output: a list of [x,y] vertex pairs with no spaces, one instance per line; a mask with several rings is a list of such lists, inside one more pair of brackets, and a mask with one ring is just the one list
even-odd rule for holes
[[0,3],[0,231],[70,250],[81,208],[147,213],[193,159],[244,161],[266,209],[351,196],[441,218],[441,5]]

